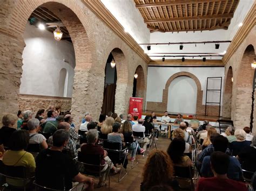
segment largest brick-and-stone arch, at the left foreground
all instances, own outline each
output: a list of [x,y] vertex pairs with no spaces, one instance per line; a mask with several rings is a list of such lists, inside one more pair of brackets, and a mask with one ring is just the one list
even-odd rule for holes
[[[74,114],[75,122],[80,121],[79,118],[83,116],[83,112],[86,110],[83,105],[85,105],[88,96],[90,96],[89,94],[95,94],[95,92],[92,91],[88,93],[87,87],[90,84],[89,77],[92,60],[96,59],[94,37],[86,15],[81,8],[82,5],[83,4],[79,4],[76,1],[64,0],[28,0],[11,2],[8,5],[4,5],[6,16],[3,17],[5,24],[0,31],[1,39],[3,39],[2,43],[14,54],[7,62],[5,61],[7,65],[9,65],[8,62],[10,62],[8,70],[15,71],[15,73],[11,73],[11,76],[14,77],[11,77],[13,80],[8,80],[10,79],[10,74],[6,74],[9,75],[8,78],[6,78],[6,76],[0,76],[0,79],[5,79],[5,84],[10,84],[12,88],[11,91],[6,90],[6,92],[3,93],[4,95],[8,95],[8,99],[5,99],[4,96],[3,101],[0,102],[0,105],[5,108],[5,112],[18,110],[18,93],[22,74],[22,51],[25,46],[23,33],[26,22],[33,10],[38,6],[43,6],[62,20],[73,42],[76,68],[72,95],[72,114]],[[12,14],[8,14],[10,12]],[[8,57],[9,56],[6,56],[6,58]],[[83,83],[81,83],[81,81]],[[86,107],[92,105],[95,107],[95,103],[93,102],[86,104]]]

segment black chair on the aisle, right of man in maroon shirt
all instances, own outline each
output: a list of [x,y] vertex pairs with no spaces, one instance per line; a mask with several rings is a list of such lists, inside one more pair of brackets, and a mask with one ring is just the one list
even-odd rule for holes
[[[126,163],[128,148],[122,148],[121,143],[113,143],[109,141],[104,141],[103,148],[107,151],[107,155],[109,156],[113,164],[122,162],[122,169],[118,177],[118,182],[120,182],[127,175],[127,170],[125,166],[127,165]],[[121,177],[123,167],[125,168],[125,174]]]

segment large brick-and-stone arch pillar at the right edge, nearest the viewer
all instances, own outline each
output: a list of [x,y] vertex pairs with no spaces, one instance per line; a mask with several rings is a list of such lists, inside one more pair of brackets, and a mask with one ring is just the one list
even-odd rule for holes
[[[242,59],[237,72],[237,79],[234,79],[237,87],[235,98],[234,123],[237,128],[250,126],[252,114],[252,97],[254,93],[253,81],[254,72],[251,63],[255,58],[255,49],[253,45],[248,45],[242,55]],[[255,94],[254,94],[255,97]],[[255,113],[255,112],[254,112]]]

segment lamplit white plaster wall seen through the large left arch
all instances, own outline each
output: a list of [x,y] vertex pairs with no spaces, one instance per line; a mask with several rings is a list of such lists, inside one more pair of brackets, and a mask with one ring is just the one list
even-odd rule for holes
[[[66,40],[57,42],[53,34],[27,24],[24,32],[23,74],[20,94],[63,96],[59,93],[59,74],[68,72],[66,96],[72,97],[75,68],[73,44]],[[65,61],[64,61],[65,59]],[[69,62],[69,63],[67,63]]]

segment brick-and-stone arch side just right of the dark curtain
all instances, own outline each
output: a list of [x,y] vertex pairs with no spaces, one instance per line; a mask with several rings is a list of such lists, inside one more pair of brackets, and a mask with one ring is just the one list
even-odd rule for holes
[[125,100],[127,94],[128,68],[125,55],[120,48],[114,48],[111,51],[117,68],[117,88],[115,95],[114,111],[117,114],[126,114],[128,106]]

